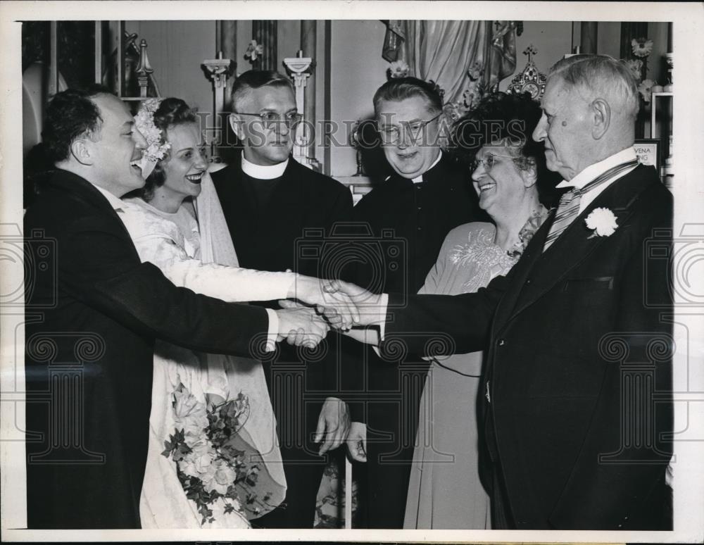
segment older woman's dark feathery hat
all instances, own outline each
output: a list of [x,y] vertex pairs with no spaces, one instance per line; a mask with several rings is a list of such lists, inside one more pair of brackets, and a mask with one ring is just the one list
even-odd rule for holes
[[477,107],[458,119],[452,127],[449,151],[455,158],[470,165],[482,146],[507,139],[520,148],[525,161],[519,168],[535,165],[537,189],[541,201],[552,204],[558,175],[548,170],[545,163],[545,145],[533,139],[533,131],[543,115],[539,104],[529,93],[486,94]]

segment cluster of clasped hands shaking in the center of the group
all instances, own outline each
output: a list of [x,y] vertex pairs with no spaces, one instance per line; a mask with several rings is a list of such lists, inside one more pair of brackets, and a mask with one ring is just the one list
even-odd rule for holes
[[381,300],[381,295],[350,282],[297,275],[289,299],[279,301],[277,342],[286,339],[288,344],[313,349],[332,327],[360,342],[377,344],[376,332],[353,327],[380,322]]

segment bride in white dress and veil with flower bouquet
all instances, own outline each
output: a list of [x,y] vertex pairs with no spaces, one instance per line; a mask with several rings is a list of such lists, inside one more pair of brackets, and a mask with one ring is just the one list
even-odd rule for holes
[[[142,261],[224,301],[322,303],[317,279],[237,267],[199,123],[184,101],[151,99],[135,120],[150,144],[141,164],[147,183],[125,199],[121,217]],[[223,437],[218,427],[229,437],[224,446],[213,439]],[[246,528],[277,506],[286,484],[275,427],[259,361],[158,342],[142,527]]]

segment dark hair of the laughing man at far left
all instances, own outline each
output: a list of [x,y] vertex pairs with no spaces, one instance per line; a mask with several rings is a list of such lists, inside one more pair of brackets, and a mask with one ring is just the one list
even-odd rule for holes
[[42,130],[44,153],[49,161],[56,164],[68,159],[71,144],[79,137],[98,142],[103,118],[92,99],[100,94],[113,92],[101,85],[92,85],[86,89],[66,89],[49,101]]

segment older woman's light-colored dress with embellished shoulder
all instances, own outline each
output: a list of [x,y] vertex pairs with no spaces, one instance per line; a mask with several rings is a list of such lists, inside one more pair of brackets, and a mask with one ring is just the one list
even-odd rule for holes
[[[419,294],[476,292],[518,257],[494,244],[496,227],[468,223],[448,233]],[[420,401],[406,518],[411,529],[488,529],[489,496],[479,482],[476,408],[482,352],[432,361]]]

